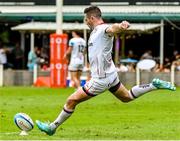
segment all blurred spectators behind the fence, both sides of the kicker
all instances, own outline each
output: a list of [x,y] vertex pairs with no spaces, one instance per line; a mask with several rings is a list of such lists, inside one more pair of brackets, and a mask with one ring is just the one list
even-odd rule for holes
[[[137,60],[137,62],[121,62],[117,64],[117,70],[120,72],[135,72],[138,61],[143,59],[152,59],[156,62],[153,72],[170,72],[172,64],[175,65],[175,70],[180,71],[180,53],[175,50],[172,57],[165,57],[163,67],[160,66],[160,60],[153,56],[151,50],[147,50],[141,57],[138,57],[132,50],[126,54],[126,58]],[[19,43],[16,43],[13,48],[5,47],[0,41],[0,63],[4,69],[33,70],[35,64],[41,70],[49,70],[49,49],[45,47],[34,47],[34,50],[29,51],[27,62],[25,62],[24,52]]]

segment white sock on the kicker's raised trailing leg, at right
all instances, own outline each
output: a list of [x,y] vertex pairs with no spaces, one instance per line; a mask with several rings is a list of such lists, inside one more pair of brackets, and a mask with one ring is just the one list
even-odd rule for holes
[[132,99],[135,99],[155,89],[157,88],[152,83],[144,84],[144,85],[137,85],[137,86],[132,87],[132,89],[129,91],[129,96]]

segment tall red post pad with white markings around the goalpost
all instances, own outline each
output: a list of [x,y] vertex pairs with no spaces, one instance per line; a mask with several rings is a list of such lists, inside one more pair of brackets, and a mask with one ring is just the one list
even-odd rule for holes
[[51,87],[66,87],[67,62],[63,56],[67,49],[67,34],[50,35]]

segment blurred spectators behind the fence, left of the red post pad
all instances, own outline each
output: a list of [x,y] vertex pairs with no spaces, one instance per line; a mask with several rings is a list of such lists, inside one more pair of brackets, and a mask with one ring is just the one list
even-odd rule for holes
[[4,69],[28,69],[30,71],[37,64],[40,69],[47,70],[49,68],[49,50],[35,46],[34,50],[29,51],[27,62],[25,62],[24,51],[19,43],[15,43],[13,47],[9,48],[0,41],[0,64]]

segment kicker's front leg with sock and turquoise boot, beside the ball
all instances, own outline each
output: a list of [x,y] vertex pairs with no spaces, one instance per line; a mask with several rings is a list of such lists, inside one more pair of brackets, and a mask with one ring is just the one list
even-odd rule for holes
[[39,120],[36,120],[36,124],[38,128],[50,136],[53,135],[56,129],[58,128],[58,126],[61,125],[64,121],[66,121],[72,115],[72,113],[75,110],[76,105],[90,98],[92,98],[92,96],[87,95],[82,88],[79,88],[75,93],[69,96],[66,104],[64,105],[63,110],[61,111],[61,113],[58,115],[58,117],[56,118],[54,122],[52,122],[51,124],[48,124],[48,123],[44,123]]

